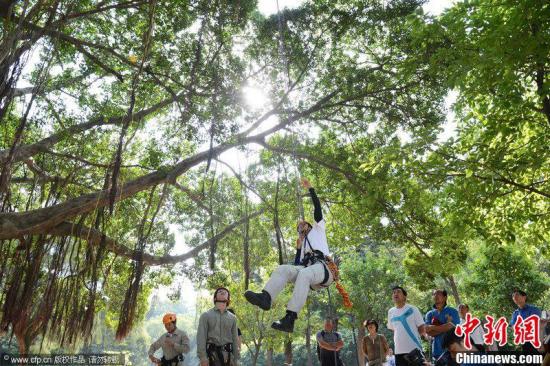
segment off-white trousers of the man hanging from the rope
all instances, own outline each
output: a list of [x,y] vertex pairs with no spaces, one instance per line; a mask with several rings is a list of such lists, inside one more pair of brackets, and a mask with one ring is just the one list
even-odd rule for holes
[[[328,281],[323,286],[328,286],[332,283],[332,273],[328,271]],[[307,300],[310,287],[317,290],[322,288],[321,282],[325,279],[325,266],[323,263],[315,263],[312,266],[293,266],[282,264],[273,271],[269,281],[265,284],[266,290],[271,296],[271,301],[284,289],[287,283],[294,283],[294,291],[292,298],[288,302],[286,308],[295,313],[299,313]]]

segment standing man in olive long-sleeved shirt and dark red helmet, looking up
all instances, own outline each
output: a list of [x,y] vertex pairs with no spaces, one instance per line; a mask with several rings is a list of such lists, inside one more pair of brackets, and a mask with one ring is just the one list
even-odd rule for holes
[[227,311],[229,290],[214,292],[215,307],[203,313],[197,330],[197,355],[200,366],[238,366],[240,357],[237,318]]

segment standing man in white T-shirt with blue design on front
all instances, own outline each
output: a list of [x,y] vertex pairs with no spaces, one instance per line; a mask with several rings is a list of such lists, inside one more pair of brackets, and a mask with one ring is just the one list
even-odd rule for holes
[[405,358],[411,351],[422,352],[420,336],[426,334],[424,318],[416,306],[407,304],[407,291],[401,286],[392,289],[395,306],[388,310],[388,329],[393,331],[395,365],[408,366]]

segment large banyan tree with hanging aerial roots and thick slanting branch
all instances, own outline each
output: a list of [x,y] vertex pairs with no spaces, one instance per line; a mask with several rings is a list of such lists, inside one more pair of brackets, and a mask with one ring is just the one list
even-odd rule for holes
[[[269,17],[254,0],[0,6],[0,332],[22,353],[39,336],[89,339],[100,309],[123,338],[160,271],[273,221],[272,204],[210,199],[223,153],[256,145],[346,175],[307,151],[316,128],[345,139],[441,120],[439,86],[403,61],[415,1]],[[171,224],[193,229],[187,253],[169,254]]]

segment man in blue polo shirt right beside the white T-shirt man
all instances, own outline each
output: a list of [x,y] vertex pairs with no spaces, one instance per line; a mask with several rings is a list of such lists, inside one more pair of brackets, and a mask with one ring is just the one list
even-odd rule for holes
[[438,289],[432,293],[433,309],[426,313],[426,333],[434,337],[432,341],[432,358],[437,360],[445,352],[443,336],[445,332],[460,324],[458,311],[447,306],[447,291]]

